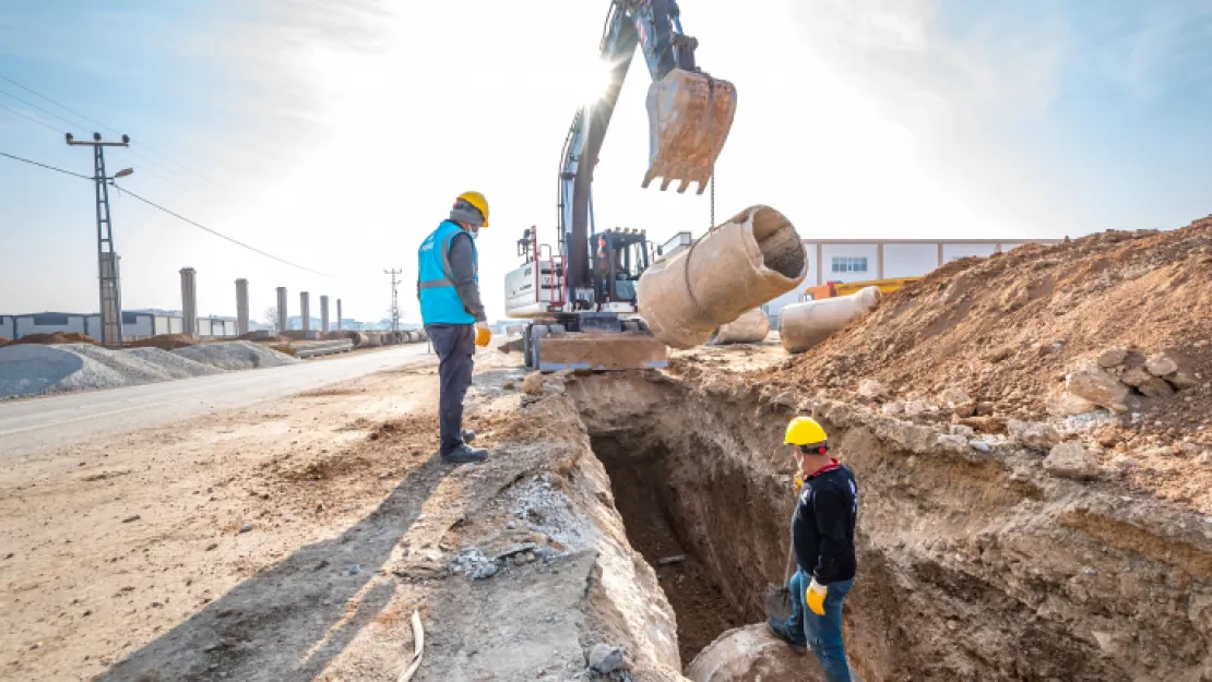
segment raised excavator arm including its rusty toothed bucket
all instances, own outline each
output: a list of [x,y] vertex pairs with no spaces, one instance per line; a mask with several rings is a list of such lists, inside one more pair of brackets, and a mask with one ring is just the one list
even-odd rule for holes
[[674,180],[707,188],[715,160],[732,127],[737,91],[694,63],[698,41],[682,33],[676,0],[612,0],[599,51],[610,67],[606,92],[573,118],[560,160],[559,222],[568,263],[573,305],[593,299],[588,240],[593,223],[593,172],[618,102],[619,90],[640,48],[652,76],[648,88],[648,171],[664,190]]

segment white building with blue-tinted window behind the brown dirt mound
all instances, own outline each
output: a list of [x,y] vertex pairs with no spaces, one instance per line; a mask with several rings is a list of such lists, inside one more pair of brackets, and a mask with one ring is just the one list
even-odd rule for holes
[[804,285],[771,300],[762,310],[778,320],[785,305],[804,300],[804,290],[828,282],[862,282],[920,277],[944,263],[970,256],[988,257],[1024,243],[1058,243],[1058,239],[818,239],[805,240],[808,277]]

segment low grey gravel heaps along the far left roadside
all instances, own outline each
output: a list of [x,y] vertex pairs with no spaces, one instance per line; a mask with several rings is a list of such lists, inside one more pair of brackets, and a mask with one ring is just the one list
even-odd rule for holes
[[175,351],[107,350],[84,343],[11,344],[0,348],[0,400],[116,389],[296,362],[288,355],[250,342],[200,344]]

